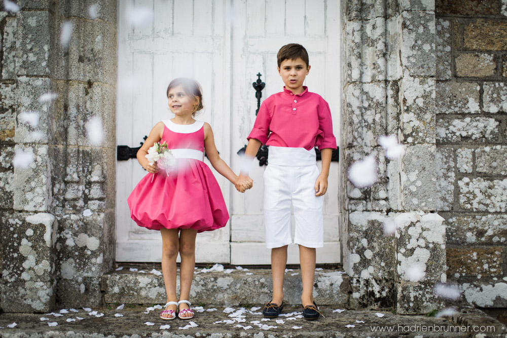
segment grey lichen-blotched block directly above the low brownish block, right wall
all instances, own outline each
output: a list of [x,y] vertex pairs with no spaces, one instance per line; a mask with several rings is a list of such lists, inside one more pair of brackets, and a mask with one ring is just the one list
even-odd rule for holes
[[504,245],[507,241],[507,215],[444,215],[447,242],[460,245]]

